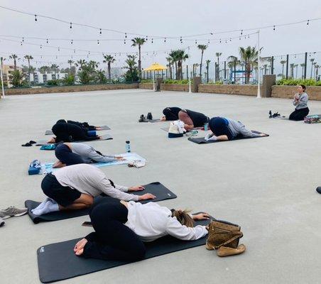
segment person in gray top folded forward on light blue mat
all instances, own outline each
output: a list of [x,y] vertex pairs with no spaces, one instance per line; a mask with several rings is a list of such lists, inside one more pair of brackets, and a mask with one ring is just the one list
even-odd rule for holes
[[120,156],[103,155],[84,143],[60,143],[55,148],[55,156],[58,158],[58,162],[53,165],[53,168],[62,168],[66,165],[82,163],[108,163],[115,160],[124,160]]

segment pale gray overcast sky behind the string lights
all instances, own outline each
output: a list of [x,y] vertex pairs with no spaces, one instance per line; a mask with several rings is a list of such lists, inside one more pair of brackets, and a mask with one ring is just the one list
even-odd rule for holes
[[[199,33],[211,33],[227,31],[232,29],[255,28],[257,26],[267,26],[281,23],[301,21],[308,18],[321,18],[320,0],[1,0],[1,6],[13,9],[38,13],[46,16],[53,16],[71,22],[87,23],[98,27],[116,29],[127,33],[141,33],[144,35],[180,36]],[[321,51],[321,21],[314,21],[308,26],[301,23],[295,26],[273,28],[261,31],[261,46],[263,46],[262,56],[285,55],[287,53],[304,53]],[[72,29],[65,23],[58,23],[44,18],[34,21],[33,16],[26,16],[11,11],[0,9],[0,34],[17,35],[19,37],[42,37],[42,38],[69,38],[69,39],[94,39],[99,38],[124,38],[124,35],[110,32],[103,32],[90,28],[73,26]],[[244,32],[246,34],[246,32]],[[215,38],[226,38],[238,36],[239,33],[228,33],[217,35]],[[0,38],[4,38],[1,36]],[[128,36],[130,40],[131,36]],[[197,44],[207,44],[209,36],[199,36],[205,40],[197,40]],[[20,39],[18,39],[20,40]],[[49,45],[66,48],[84,49],[99,53],[126,53],[136,52],[132,48],[129,40],[126,45],[124,41],[108,41],[93,43],[77,42],[71,45],[69,41],[50,40]],[[38,43],[46,45],[45,40],[25,40],[25,43]],[[224,41],[223,41],[224,42]],[[73,53],[72,50],[50,49],[38,46],[26,45],[23,43],[11,43],[6,40],[0,41],[0,53],[5,58],[10,53],[21,55],[31,54],[39,65],[49,62],[67,62],[70,56],[80,59],[79,55],[84,52]],[[251,35],[248,39],[235,39],[228,43],[210,43],[205,51],[204,59],[215,60],[215,53],[222,53],[222,60],[229,55],[238,55],[239,46],[256,46],[256,35]],[[153,60],[166,64],[164,51],[158,51],[153,59],[153,50],[170,50],[175,48],[186,48],[190,45],[190,64],[200,62],[200,51],[197,50],[195,41],[183,40],[153,40],[149,38],[148,43],[143,45],[142,51],[149,51],[148,55],[143,55],[143,67],[149,65]],[[43,55],[43,58],[40,58]],[[45,55],[58,55],[55,56]],[[67,55],[67,56],[62,56]],[[102,61],[102,55],[89,55],[85,59]],[[115,66],[123,66],[126,55],[117,55]],[[312,55],[321,63],[321,53]],[[298,58],[300,58],[298,60]],[[281,58],[278,60],[280,61]],[[303,62],[303,55],[298,56],[299,62]],[[20,61],[21,62],[21,61]],[[21,62],[23,63],[23,62]],[[36,62],[34,62],[36,63]],[[33,64],[36,65],[36,64]],[[65,65],[67,66],[67,64]]]

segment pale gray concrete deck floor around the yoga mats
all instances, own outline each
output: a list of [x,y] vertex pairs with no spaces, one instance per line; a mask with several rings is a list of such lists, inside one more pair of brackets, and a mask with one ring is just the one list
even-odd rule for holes
[[[168,106],[238,119],[270,137],[197,145],[186,137],[168,139],[160,130],[168,123],[138,124],[141,114],[158,117]],[[309,107],[310,114],[321,113],[321,102]],[[319,283],[321,195],[315,187],[321,185],[321,124],[268,119],[270,109],[290,114],[293,106],[289,99],[139,89],[6,97],[0,101],[0,208],[44,198],[43,176],[28,176],[28,163],[54,161],[54,153],[22,143],[50,137],[45,130],[58,119],[107,124],[114,140],[90,145],[124,153],[130,140],[131,150],[148,163],[140,169],[105,167],[104,173],[120,185],[160,181],[178,195],[160,204],[241,225],[247,251],[219,258],[197,247],[61,283]],[[81,226],[88,219],[37,225],[28,216],[6,219],[0,228],[0,282],[40,283],[36,249],[85,236],[92,231]]]

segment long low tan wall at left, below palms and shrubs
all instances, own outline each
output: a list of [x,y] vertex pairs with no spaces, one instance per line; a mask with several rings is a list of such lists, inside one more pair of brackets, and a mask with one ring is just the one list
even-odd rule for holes
[[41,87],[28,89],[6,89],[5,94],[47,94],[61,92],[88,92],[109,89],[138,89],[138,84],[92,84],[82,86],[65,86],[65,87]]

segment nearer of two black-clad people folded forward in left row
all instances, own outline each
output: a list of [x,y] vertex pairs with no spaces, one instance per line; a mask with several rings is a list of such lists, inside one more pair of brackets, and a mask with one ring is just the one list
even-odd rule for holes
[[72,142],[72,141],[92,141],[100,139],[100,136],[88,136],[82,127],[75,124],[55,124],[52,129],[56,137],[51,138],[48,143]]

